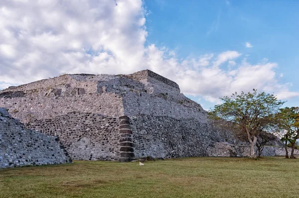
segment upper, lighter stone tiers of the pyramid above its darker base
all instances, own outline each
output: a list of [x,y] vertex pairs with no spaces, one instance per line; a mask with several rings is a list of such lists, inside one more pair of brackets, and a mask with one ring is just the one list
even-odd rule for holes
[[181,94],[175,82],[149,70],[130,75],[70,74],[10,87],[0,91],[0,106],[24,123],[73,111],[206,122],[206,111]]

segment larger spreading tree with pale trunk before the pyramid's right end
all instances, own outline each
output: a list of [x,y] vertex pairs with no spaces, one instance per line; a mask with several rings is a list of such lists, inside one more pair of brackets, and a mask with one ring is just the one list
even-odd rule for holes
[[265,92],[236,93],[231,97],[220,98],[223,103],[215,105],[209,115],[214,119],[224,119],[234,123],[238,130],[247,136],[251,146],[250,158],[256,158],[256,145],[262,129],[274,120],[284,102],[278,100],[273,94]]

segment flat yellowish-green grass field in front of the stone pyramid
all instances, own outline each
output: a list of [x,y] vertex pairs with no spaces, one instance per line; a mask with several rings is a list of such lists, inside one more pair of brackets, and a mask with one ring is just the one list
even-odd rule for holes
[[181,158],[0,170],[0,198],[298,198],[299,160]]

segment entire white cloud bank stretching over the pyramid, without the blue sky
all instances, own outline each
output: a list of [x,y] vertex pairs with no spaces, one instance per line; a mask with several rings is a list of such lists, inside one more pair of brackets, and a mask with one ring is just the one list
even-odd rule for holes
[[178,59],[171,49],[146,45],[146,14],[142,0],[0,1],[0,89],[64,72],[150,69],[212,103],[253,88],[282,99],[299,95],[276,80],[277,64],[268,60],[237,64],[237,51]]

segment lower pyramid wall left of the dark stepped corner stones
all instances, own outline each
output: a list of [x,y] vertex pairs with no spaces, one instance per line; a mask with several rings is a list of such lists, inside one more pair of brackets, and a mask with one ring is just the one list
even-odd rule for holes
[[72,112],[35,120],[30,129],[57,136],[74,160],[113,160],[120,155],[120,119],[95,113]]

